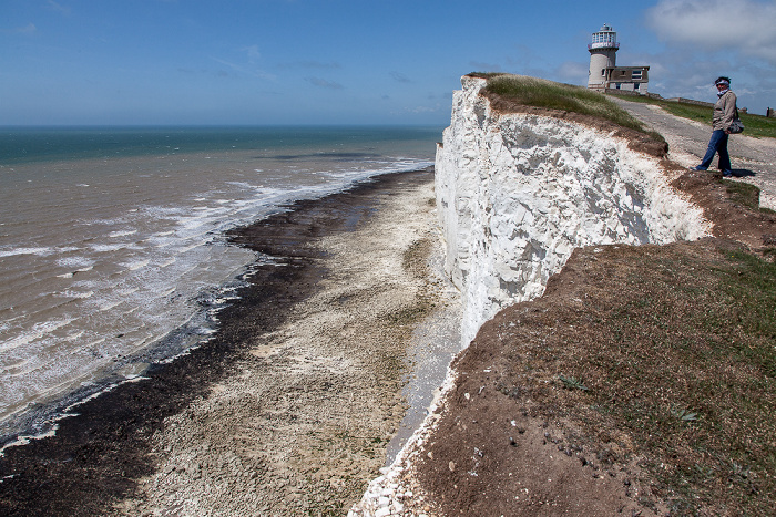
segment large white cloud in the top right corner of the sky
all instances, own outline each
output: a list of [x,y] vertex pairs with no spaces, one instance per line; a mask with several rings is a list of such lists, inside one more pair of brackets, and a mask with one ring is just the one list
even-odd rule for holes
[[776,64],[776,0],[661,0],[646,10],[646,22],[666,43]]

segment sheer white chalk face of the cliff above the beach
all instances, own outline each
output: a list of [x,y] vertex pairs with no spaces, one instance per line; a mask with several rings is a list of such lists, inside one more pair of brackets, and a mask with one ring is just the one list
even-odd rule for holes
[[437,147],[436,195],[463,344],[500,308],[540,296],[576,247],[709,231],[656,158],[573,122],[499,114],[479,94],[486,80],[461,83]]

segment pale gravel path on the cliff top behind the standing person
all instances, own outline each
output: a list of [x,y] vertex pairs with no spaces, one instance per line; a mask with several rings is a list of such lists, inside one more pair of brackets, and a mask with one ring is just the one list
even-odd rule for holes
[[[662,134],[668,142],[668,157],[692,167],[706,153],[711,127],[667,113],[660,106],[611,96],[630,114]],[[732,135],[728,144],[734,178],[760,188],[760,205],[776,209],[776,139]],[[716,159],[716,158],[715,158]]]

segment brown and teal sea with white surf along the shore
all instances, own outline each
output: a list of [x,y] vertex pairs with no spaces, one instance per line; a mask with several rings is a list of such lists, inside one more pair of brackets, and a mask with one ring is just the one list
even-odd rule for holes
[[227,230],[432,165],[441,131],[0,127],[0,445],[207,340],[272,261]]

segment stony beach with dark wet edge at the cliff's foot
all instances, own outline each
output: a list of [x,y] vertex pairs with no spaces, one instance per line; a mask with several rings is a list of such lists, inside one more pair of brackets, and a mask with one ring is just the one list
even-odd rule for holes
[[432,177],[382,176],[234,231],[275,260],[214,338],[7,449],[0,513],[347,513],[401,426],[410,361],[440,363],[412,344],[455,304],[428,267]]

